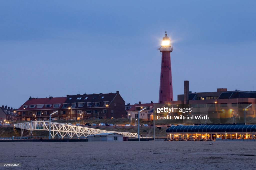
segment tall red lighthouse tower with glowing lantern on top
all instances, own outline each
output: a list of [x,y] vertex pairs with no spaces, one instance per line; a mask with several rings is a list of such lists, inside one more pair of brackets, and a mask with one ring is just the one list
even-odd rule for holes
[[173,100],[173,83],[172,83],[172,68],[171,68],[171,52],[173,47],[171,46],[170,39],[167,37],[165,31],[165,37],[163,38],[161,47],[158,48],[162,52],[161,62],[161,75],[160,75],[160,88],[159,88],[159,103]]

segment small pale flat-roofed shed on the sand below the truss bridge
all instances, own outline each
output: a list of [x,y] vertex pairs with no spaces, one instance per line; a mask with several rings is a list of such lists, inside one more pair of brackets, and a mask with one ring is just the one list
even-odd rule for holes
[[123,141],[123,135],[119,133],[99,133],[96,135],[88,135],[88,141],[89,142],[94,142],[94,141],[121,142]]

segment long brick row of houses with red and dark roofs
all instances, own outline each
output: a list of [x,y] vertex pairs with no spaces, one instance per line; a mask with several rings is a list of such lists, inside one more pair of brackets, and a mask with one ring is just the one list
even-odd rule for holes
[[125,102],[119,91],[116,93],[77,94],[66,97],[29,98],[18,110],[21,120],[48,120],[49,114],[58,111],[51,118],[58,120],[79,120],[96,118],[124,118]]

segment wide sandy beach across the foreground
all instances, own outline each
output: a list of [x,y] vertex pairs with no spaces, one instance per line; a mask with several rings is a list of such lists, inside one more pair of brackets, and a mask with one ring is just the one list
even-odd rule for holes
[[[1,142],[2,169],[252,169],[255,142]],[[249,155],[244,155],[249,154]]]

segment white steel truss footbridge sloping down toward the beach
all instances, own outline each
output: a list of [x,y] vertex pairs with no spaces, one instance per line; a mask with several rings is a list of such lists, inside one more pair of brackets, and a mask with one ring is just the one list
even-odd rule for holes
[[[25,123],[14,124],[15,128],[21,129],[21,137],[24,135],[24,130],[32,131],[34,130],[47,130],[49,131],[49,123],[47,121],[33,121]],[[116,132],[108,131],[102,129],[94,129],[83,126],[68,125],[64,123],[51,122],[51,137],[52,138],[86,138],[88,135],[95,135],[99,133],[119,133],[124,136],[138,137],[137,133],[129,132]]]

